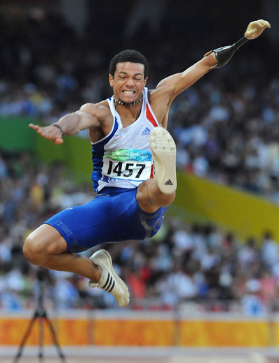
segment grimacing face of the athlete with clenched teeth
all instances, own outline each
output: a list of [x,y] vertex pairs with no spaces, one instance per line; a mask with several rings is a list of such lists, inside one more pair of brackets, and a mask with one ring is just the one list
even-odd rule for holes
[[117,63],[114,77],[110,75],[110,86],[114,89],[114,96],[126,103],[140,99],[146,81],[144,65],[129,61]]

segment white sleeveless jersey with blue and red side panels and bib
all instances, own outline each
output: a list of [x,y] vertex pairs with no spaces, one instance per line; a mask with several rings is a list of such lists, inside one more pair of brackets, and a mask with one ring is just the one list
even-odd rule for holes
[[146,87],[143,93],[140,116],[127,127],[123,127],[112,97],[107,99],[114,117],[112,130],[105,138],[91,142],[91,179],[97,192],[105,186],[135,188],[153,177],[149,134],[154,127],[160,125],[151,110]]

